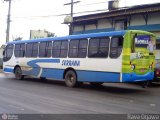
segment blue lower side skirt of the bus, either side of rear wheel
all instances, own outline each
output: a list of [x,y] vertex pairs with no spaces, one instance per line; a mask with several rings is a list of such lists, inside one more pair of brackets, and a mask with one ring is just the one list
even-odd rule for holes
[[[63,80],[64,69],[43,68],[41,77]],[[120,82],[120,73],[77,70],[79,82]]]

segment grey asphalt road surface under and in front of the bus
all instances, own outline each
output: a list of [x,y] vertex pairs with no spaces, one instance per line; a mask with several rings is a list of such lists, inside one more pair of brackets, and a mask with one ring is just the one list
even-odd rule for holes
[[99,114],[160,113],[160,84],[85,84],[68,88],[63,82],[0,73],[0,113]]

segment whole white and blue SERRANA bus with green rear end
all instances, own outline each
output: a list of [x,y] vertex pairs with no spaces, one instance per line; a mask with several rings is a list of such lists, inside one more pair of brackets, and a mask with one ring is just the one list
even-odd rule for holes
[[9,42],[3,70],[16,79],[35,76],[80,82],[146,82],[154,78],[155,35],[128,30]]

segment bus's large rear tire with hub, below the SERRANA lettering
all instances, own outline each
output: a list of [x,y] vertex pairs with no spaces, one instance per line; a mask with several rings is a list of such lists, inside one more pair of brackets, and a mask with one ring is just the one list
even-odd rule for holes
[[73,70],[69,70],[65,73],[65,84],[71,88],[77,85],[77,75]]

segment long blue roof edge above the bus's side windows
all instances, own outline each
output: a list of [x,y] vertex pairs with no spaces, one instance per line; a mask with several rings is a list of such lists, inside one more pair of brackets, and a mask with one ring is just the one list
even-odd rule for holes
[[100,33],[90,33],[90,34],[79,34],[79,35],[69,35],[63,37],[47,37],[47,38],[39,38],[39,39],[31,39],[31,40],[21,40],[21,41],[12,41],[7,44],[17,44],[17,43],[31,43],[31,42],[44,42],[44,41],[53,41],[53,40],[66,40],[66,39],[82,39],[82,38],[90,38],[90,37],[103,37],[103,36],[119,36],[124,35],[126,33],[123,31],[112,31],[112,32],[100,32]]

